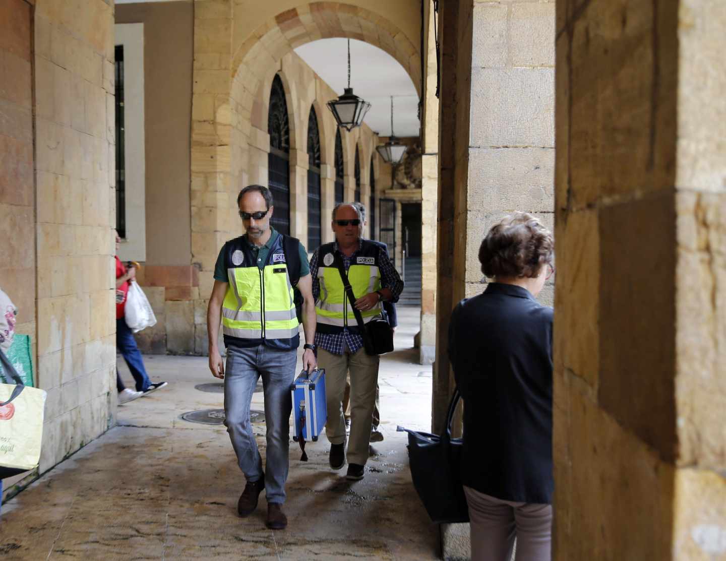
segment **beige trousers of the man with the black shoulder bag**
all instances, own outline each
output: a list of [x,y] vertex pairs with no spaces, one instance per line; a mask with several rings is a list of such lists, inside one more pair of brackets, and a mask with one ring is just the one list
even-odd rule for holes
[[368,461],[370,427],[375,406],[375,386],[378,384],[378,356],[367,355],[360,348],[336,355],[319,349],[318,366],[325,368],[327,423],[325,434],[332,444],[346,441],[346,421],[343,417],[343,394],[346,377],[351,375],[351,435],[348,441],[348,464],[365,465]]

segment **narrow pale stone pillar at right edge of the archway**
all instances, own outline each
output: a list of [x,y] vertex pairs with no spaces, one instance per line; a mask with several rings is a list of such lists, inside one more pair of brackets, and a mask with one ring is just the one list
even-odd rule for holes
[[420,364],[436,358],[436,229],[439,189],[439,99],[436,97],[436,41],[433,4],[424,5],[425,86],[421,127],[421,331],[418,337]]

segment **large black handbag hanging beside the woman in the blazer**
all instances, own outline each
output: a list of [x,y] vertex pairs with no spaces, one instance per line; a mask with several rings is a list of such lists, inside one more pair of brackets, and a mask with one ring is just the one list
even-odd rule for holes
[[436,524],[469,521],[464,486],[460,478],[463,443],[452,438],[452,420],[459,403],[459,390],[449,402],[446,428],[441,435],[398,427],[409,435],[411,479],[431,521]]

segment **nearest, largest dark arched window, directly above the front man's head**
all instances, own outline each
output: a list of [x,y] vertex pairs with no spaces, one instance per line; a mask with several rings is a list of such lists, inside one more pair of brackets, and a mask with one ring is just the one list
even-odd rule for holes
[[277,74],[270,91],[267,132],[270,135],[267,182],[274,199],[270,224],[280,234],[290,234],[290,122],[287,120],[285,88]]

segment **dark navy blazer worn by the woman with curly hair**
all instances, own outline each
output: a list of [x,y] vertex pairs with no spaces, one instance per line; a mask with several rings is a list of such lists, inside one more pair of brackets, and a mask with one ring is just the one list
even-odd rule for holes
[[551,504],[552,308],[493,282],[454,308],[449,359],[464,400],[464,485]]

